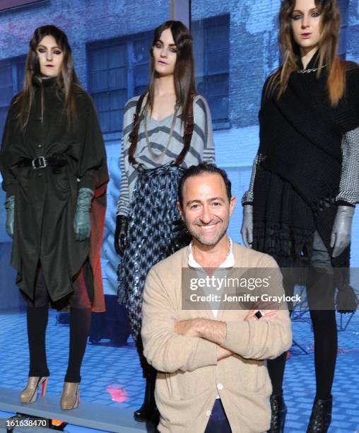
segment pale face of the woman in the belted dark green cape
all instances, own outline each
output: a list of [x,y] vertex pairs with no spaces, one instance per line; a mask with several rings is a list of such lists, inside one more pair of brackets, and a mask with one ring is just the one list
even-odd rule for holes
[[40,72],[45,76],[57,76],[62,66],[64,53],[57,46],[53,36],[47,35],[40,40],[36,48],[40,63]]

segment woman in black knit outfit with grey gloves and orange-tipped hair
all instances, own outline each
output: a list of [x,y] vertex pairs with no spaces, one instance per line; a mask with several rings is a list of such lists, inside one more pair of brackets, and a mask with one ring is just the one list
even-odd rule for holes
[[[335,0],[283,0],[283,64],[264,84],[260,144],[242,199],[242,237],[281,267],[305,267],[314,331],[317,393],[307,432],[326,432],[337,352],[335,289],[341,311],[355,309],[348,284],[351,221],[359,202],[359,68],[336,54]],[[298,282],[285,279],[288,294]],[[337,308],[338,308],[337,297]],[[268,362],[273,384],[270,432],[283,432],[286,354]]]

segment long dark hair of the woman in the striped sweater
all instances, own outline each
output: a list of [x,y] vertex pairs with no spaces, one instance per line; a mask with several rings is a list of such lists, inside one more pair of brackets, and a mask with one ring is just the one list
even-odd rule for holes
[[153,42],[150,50],[150,83],[148,86],[148,108],[152,110],[153,100],[155,98],[155,58],[153,57],[153,47],[160,40],[163,30],[169,28],[173,40],[177,47],[177,60],[175,64],[175,92],[177,104],[182,108],[181,119],[184,122],[187,119],[189,104],[192,104],[193,95],[196,93],[196,82],[194,80],[194,59],[192,52],[192,35],[188,28],[181,21],[166,21],[155,29]]

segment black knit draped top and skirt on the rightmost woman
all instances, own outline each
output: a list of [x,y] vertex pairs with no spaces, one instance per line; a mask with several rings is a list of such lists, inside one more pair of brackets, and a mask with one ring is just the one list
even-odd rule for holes
[[[317,78],[318,58],[310,73],[293,72],[281,98],[264,96],[259,112],[259,164],[254,180],[255,250],[282,266],[307,265],[318,231],[331,255],[331,230],[342,170],[343,134],[359,126],[359,68],[346,62],[346,93],[332,107],[327,71]],[[359,145],[359,144],[358,144]],[[331,258],[349,266],[350,248]]]

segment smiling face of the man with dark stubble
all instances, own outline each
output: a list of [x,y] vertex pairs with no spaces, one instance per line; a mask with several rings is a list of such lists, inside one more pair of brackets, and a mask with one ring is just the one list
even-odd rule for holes
[[182,219],[192,236],[205,246],[215,246],[225,236],[235,206],[228,200],[222,177],[203,173],[185,180],[182,188]]

